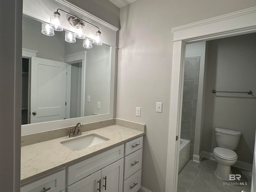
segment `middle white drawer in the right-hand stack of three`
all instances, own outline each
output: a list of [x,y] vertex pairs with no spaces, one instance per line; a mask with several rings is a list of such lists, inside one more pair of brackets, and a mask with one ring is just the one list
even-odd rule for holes
[[124,158],[124,180],[141,169],[142,148]]

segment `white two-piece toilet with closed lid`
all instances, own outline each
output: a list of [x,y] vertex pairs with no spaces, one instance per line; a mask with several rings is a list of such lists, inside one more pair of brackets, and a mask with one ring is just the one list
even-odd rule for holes
[[222,180],[229,180],[231,166],[237,162],[238,156],[234,150],[238,146],[240,136],[240,131],[215,128],[215,138],[218,145],[213,150],[213,156],[218,163],[215,175]]

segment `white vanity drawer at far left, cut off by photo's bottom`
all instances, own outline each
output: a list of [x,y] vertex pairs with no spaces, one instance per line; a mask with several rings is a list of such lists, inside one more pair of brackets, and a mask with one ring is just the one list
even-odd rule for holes
[[[49,190],[47,190],[50,188]],[[20,192],[60,192],[65,188],[65,170],[49,175],[20,188]]]

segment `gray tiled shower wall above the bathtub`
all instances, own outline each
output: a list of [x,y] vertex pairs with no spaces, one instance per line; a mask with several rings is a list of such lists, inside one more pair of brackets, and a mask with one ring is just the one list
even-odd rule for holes
[[200,56],[185,58],[180,138],[190,140],[193,159]]

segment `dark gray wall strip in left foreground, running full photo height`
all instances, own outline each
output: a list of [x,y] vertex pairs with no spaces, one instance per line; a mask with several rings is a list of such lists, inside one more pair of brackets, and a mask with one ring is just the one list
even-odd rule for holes
[[0,188],[19,192],[22,1],[0,1],[0,16]]

